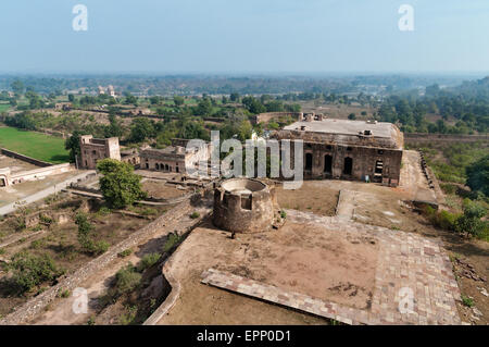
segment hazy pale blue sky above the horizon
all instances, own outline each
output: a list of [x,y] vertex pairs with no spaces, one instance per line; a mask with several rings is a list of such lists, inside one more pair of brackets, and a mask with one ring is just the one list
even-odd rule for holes
[[2,0],[0,33],[0,72],[489,71],[489,0]]

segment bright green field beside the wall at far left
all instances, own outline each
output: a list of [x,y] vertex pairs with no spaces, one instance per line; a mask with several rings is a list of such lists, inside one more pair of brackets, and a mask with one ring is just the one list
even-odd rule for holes
[[0,147],[53,164],[70,161],[64,139],[14,127],[0,127]]

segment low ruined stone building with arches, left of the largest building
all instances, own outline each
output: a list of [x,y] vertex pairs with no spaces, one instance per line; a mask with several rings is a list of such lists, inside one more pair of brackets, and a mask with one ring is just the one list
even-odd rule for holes
[[187,149],[187,142],[186,139],[172,139],[172,146],[164,149],[141,150],[140,168],[186,174],[189,164],[197,166],[198,162],[209,160],[211,153],[209,144],[202,148]]

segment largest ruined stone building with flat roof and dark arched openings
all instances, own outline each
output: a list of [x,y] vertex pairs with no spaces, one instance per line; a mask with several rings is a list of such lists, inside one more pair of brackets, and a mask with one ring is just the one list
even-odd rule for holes
[[[404,141],[394,124],[309,113],[272,137],[304,141],[305,178],[372,181],[392,187],[399,184]],[[291,150],[293,156],[293,146]]]

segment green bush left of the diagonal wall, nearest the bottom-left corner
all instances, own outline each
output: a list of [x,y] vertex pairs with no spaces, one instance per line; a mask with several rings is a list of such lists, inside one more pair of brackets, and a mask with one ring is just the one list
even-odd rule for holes
[[64,273],[49,256],[37,257],[25,251],[12,257],[9,270],[13,272],[12,281],[22,293],[43,282],[54,281]]

